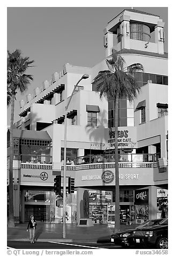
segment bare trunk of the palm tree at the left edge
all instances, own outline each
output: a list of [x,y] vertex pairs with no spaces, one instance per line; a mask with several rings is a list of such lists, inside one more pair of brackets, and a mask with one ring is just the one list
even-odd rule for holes
[[13,119],[14,119],[14,94],[11,97],[11,122],[10,122],[10,170],[9,170],[9,227],[14,227],[13,212]]

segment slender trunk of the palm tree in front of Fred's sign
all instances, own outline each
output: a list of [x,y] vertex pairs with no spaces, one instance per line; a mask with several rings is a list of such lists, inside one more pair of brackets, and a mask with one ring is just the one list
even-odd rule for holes
[[119,194],[119,159],[118,159],[118,110],[119,97],[115,99],[115,226],[114,231],[120,230],[120,194]]

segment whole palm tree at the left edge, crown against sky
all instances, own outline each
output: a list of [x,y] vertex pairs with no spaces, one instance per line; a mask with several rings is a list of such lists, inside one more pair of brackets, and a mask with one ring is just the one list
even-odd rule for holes
[[21,51],[10,53],[8,51],[7,59],[7,101],[8,106],[11,103],[11,123],[10,123],[10,170],[9,170],[9,227],[14,227],[13,214],[13,119],[14,119],[14,99],[19,90],[21,93],[27,90],[30,81],[33,81],[32,75],[24,74],[26,69],[34,61],[28,57],[22,58]]

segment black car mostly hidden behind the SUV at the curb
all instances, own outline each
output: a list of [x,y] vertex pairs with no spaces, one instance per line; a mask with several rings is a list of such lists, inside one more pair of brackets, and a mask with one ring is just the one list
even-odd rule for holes
[[[135,229],[141,229],[142,227],[157,225],[162,220],[163,220],[162,218],[161,219],[151,219],[151,220],[148,220],[148,221],[138,225]],[[130,234],[132,234],[135,229],[128,229],[125,231],[122,230],[122,231],[112,234],[111,242],[114,244],[119,244],[123,247],[129,246],[130,244],[128,241],[128,236],[130,236]]]

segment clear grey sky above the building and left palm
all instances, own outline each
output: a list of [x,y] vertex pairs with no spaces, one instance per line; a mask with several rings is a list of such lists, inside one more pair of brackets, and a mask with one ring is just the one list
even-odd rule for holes
[[[123,9],[130,7],[8,7],[7,48],[16,48],[34,60],[35,67],[27,70],[34,81],[28,93],[60,72],[64,63],[93,67],[104,59],[103,30],[107,23]],[[167,8],[133,7],[133,9],[159,15],[165,22],[165,52],[167,52]],[[14,122],[19,119],[17,95]],[[8,108],[8,125],[10,124]]]

